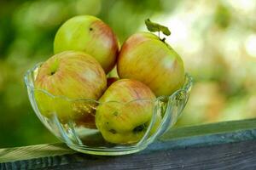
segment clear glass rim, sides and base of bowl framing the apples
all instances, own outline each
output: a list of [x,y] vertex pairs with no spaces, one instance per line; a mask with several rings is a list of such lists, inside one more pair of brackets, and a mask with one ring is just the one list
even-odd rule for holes
[[[129,144],[129,145],[117,144],[111,148],[91,147],[91,146],[87,146],[87,145],[84,145],[81,143],[79,144],[79,142],[78,142],[78,144],[74,144],[69,139],[69,137],[67,137],[65,130],[61,126],[61,122],[58,120],[58,117],[55,115],[52,117],[51,123],[54,123],[56,125],[56,127],[58,128],[59,133],[56,133],[56,131],[53,129],[53,127],[49,124],[49,120],[47,118],[45,118],[45,116],[43,116],[40,113],[40,111],[38,109],[37,102],[34,98],[34,91],[38,90],[44,94],[49,95],[50,98],[61,98],[61,99],[65,99],[70,102],[73,102],[73,101],[87,101],[88,102],[88,101],[90,101],[90,102],[94,102],[99,105],[102,103],[95,99],[69,99],[65,96],[55,96],[53,94],[49,94],[49,92],[45,91],[44,89],[35,89],[33,81],[35,80],[35,78],[37,76],[39,66],[42,64],[43,63],[38,63],[32,69],[26,71],[26,74],[24,77],[29,100],[31,102],[33,110],[35,111],[35,113],[38,116],[38,118],[40,119],[40,121],[43,122],[44,126],[47,127],[49,129],[49,131],[51,133],[53,133],[58,139],[65,142],[73,150],[77,150],[79,152],[88,153],[88,154],[92,154],[92,155],[106,155],[106,156],[125,155],[125,154],[131,154],[131,153],[145,149],[148,146],[148,144],[151,144],[155,139],[159,138],[163,133],[166,133],[166,131],[168,131],[177,122],[178,117],[181,116],[184,106],[187,104],[187,101],[189,99],[190,90],[193,86],[193,78],[191,76],[189,76],[188,73],[186,73],[183,87],[178,89],[177,91],[175,91],[170,96],[160,96],[154,100],[135,99],[135,100],[131,100],[127,103],[121,103],[119,101],[106,102],[106,103],[116,102],[116,103],[119,103],[122,105],[126,105],[131,102],[137,102],[137,101],[142,101],[142,100],[143,101],[151,101],[154,103],[154,112],[153,112],[153,115],[152,115],[152,118],[149,123],[147,131],[144,133],[143,138],[140,139],[137,143]],[[177,103],[179,100],[180,94],[181,94],[181,96],[183,96],[183,100],[181,100],[182,101],[181,103]],[[149,134],[150,130],[154,126],[157,112],[160,111],[158,105],[160,104],[160,102],[163,102],[163,100],[166,103],[165,113],[162,114],[163,116],[162,116],[160,125],[156,128],[155,133]],[[73,129],[71,129],[71,130],[73,131]],[[73,134],[73,135],[75,135],[75,138],[78,139],[76,134]],[[78,141],[79,141],[79,139],[78,139]]]

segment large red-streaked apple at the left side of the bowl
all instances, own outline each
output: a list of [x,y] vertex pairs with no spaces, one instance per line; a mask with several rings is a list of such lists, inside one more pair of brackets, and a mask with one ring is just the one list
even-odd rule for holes
[[[38,69],[34,84],[38,109],[44,116],[56,113],[63,123],[74,120],[85,127],[96,127],[95,111],[90,109],[94,104],[73,100],[99,99],[107,88],[102,66],[89,54],[55,54]],[[42,90],[60,97],[53,98]]]

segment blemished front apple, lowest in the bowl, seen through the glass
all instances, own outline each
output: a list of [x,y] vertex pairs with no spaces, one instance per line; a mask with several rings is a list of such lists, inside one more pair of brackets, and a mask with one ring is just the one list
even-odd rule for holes
[[[136,143],[143,138],[154,113],[153,92],[142,82],[121,79],[105,91],[96,109],[96,127],[113,144]],[[155,127],[160,123],[157,115]]]

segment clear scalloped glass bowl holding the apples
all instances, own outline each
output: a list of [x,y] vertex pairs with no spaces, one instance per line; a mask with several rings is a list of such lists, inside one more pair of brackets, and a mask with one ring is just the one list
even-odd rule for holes
[[[42,64],[26,72],[25,82],[29,100],[36,115],[58,139],[65,142],[73,150],[93,155],[125,155],[145,149],[160,135],[166,133],[181,115],[184,106],[189,99],[189,93],[192,88],[192,77],[186,74],[183,87],[178,89],[170,96],[160,96],[157,99],[135,99],[128,103],[116,101],[100,103],[94,99],[68,99],[65,96],[55,96],[42,89],[34,88],[34,81],[37,77],[38,68]],[[44,106],[42,102],[37,102],[35,94],[44,95]],[[116,107],[113,107],[116,106]],[[140,108],[134,108],[140,105]],[[143,106],[147,105],[147,108]],[[105,107],[103,107],[105,106]],[[83,117],[86,112],[89,117],[87,120],[94,120],[98,108],[112,108],[109,111],[147,111],[152,112],[149,121],[143,125],[134,127],[131,132],[127,131],[124,138],[133,138],[129,143],[113,144],[102,137],[102,133],[96,127],[88,126],[90,123],[79,121],[73,117],[72,113],[80,114]],[[108,109],[106,109],[108,110]],[[160,118],[159,118],[160,117]],[[120,122],[120,126],[122,122]],[[109,136],[115,137],[113,129],[109,129]]]

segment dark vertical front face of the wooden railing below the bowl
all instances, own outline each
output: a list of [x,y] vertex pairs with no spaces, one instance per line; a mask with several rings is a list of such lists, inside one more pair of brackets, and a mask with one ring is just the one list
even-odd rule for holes
[[130,156],[73,154],[0,164],[0,169],[256,169],[256,140]]

